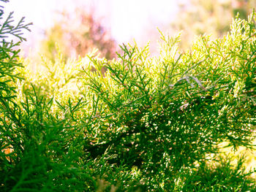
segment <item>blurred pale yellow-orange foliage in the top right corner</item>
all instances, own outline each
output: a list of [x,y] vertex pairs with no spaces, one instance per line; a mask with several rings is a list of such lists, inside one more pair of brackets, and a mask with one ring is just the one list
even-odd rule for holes
[[246,19],[252,8],[253,0],[190,0],[180,4],[180,11],[175,22],[170,24],[170,30],[183,30],[181,48],[192,45],[197,35],[211,34],[212,39],[222,37],[229,31],[232,18]]

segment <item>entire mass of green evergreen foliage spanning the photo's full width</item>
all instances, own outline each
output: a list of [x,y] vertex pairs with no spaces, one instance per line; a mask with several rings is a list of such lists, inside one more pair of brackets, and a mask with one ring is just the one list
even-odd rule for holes
[[1,191],[255,191],[219,145],[253,148],[255,18],[187,53],[162,34],[158,57],[59,52],[36,72],[1,44]]

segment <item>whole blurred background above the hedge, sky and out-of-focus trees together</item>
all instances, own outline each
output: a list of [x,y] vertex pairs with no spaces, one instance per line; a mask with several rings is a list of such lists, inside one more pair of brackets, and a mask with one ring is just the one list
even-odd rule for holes
[[24,36],[23,54],[47,55],[54,60],[58,50],[64,58],[83,57],[94,48],[108,59],[116,57],[118,45],[134,40],[150,43],[157,54],[157,27],[170,36],[181,34],[186,50],[196,35],[222,37],[239,12],[246,18],[256,0],[10,0],[5,12],[34,23]]

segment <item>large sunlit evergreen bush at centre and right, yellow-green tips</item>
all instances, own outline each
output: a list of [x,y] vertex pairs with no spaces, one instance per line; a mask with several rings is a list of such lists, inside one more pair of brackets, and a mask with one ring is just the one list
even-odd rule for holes
[[[178,37],[162,36],[159,58],[148,59],[147,47],[126,45],[120,61],[92,58],[99,71],[85,81],[97,96],[87,137],[93,139],[86,147],[91,156],[108,149],[116,155],[111,162],[138,167],[145,185],[174,190],[180,173],[217,153],[219,142],[249,145],[255,23],[236,20],[232,28],[214,42],[200,37],[191,53],[178,54]],[[105,77],[99,73],[102,64],[108,68]]]

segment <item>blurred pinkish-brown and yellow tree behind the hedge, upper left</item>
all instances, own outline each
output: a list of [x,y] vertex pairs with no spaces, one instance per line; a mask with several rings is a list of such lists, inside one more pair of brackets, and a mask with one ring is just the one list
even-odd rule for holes
[[58,49],[66,59],[78,55],[84,57],[95,48],[102,57],[111,59],[116,55],[116,42],[110,37],[109,31],[94,18],[93,13],[77,8],[72,14],[62,12],[61,20],[46,31],[41,53],[54,61]]

